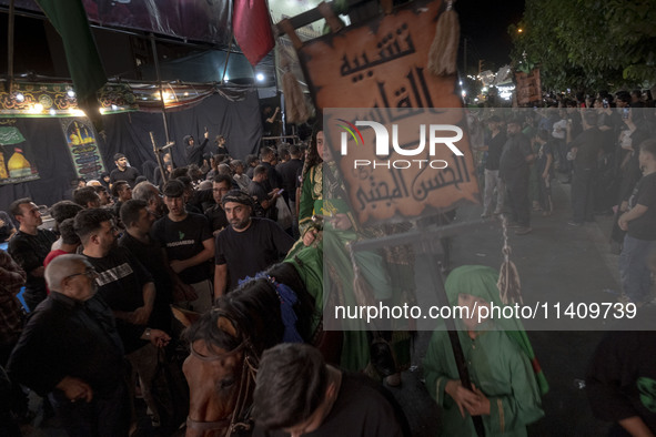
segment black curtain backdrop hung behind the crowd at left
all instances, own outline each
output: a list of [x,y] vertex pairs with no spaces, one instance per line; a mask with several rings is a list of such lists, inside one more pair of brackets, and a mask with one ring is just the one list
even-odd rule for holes
[[[104,115],[102,120],[107,139],[97,134],[97,140],[108,171],[115,167],[113,155],[118,152],[124,153],[130,165],[140,172],[147,161],[155,162],[149,132],[154,133],[158,146],[164,145],[166,136],[161,113],[131,112]],[[200,140],[205,126],[211,146],[214,146],[215,136],[223,134],[232,157],[243,160],[260,149],[262,121],[256,92],[248,93],[238,102],[214,94],[191,109],[168,112],[166,120],[171,141],[175,142],[171,152],[176,166],[185,163],[182,138],[191,134]],[[8,211],[11,202],[21,197],[31,197],[38,205],[49,206],[65,199],[77,174],[60,120],[16,119],[16,126],[30,144],[32,154],[28,159],[33,161],[41,179],[0,185],[0,210]]]

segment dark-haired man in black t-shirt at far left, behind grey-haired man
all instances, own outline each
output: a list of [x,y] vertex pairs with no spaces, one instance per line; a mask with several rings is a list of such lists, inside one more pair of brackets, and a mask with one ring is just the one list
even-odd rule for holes
[[52,243],[57,241],[54,232],[40,230],[43,224],[39,207],[31,199],[19,199],[10,206],[10,212],[19,222],[18,232],[9,241],[9,254],[28,274],[23,298],[30,311],[46,298],[46,280],[43,280],[43,260],[50,253]]

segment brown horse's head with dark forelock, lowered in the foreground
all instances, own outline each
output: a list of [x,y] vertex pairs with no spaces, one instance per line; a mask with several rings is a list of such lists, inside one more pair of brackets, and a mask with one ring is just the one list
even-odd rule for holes
[[280,299],[270,281],[244,284],[188,328],[182,370],[190,389],[186,436],[228,436],[248,427],[258,359],[282,339]]

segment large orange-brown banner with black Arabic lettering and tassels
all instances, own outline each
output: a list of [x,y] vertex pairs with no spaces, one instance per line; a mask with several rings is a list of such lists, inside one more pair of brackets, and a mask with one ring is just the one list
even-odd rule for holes
[[[455,77],[435,77],[426,69],[441,9],[440,1],[412,2],[299,50],[315,104],[324,112],[326,146],[363,224],[477,202]],[[354,160],[372,165],[354,167]],[[406,162],[412,165],[401,169]]]

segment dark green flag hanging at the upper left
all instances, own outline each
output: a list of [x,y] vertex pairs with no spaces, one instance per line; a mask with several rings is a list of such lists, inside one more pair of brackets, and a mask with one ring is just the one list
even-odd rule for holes
[[61,35],[78,103],[91,101],[98,108],[95,92],[105,84],[107,74],[82,1],[37,0],[37,3]]

